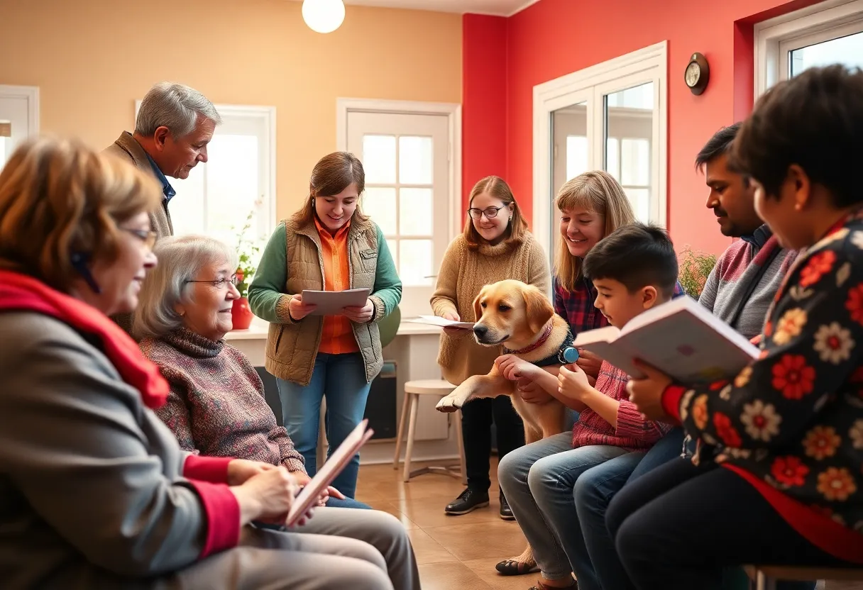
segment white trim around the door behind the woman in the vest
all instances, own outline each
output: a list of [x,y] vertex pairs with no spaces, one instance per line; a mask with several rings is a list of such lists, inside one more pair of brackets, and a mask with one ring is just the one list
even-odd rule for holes
[[447,206],[447,243],[461,232],[462,227],[462,105],[456,103],[425,103],[410,100],[378,100],[369,98],[336,99],[336,149],[348,148],[348,113],[392,113],[397,115],[444,115],[449,126],[450,145],[447,148],[450,178],[450,203]]

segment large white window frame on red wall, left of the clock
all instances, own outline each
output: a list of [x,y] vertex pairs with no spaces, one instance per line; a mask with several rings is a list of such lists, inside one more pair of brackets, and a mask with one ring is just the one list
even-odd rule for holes
[[[551,132],[552,113],[570,104],[587,102],[588,169],[602,169],[605,141],[602,129],[602,97],[633,86],[653,83],[653,141],[651,221],[665,226],[668,210],[668,42],[661,41],[613,60],[590,66],[533,87],[533,227],[545,248],[554,252],[551,227]],[[598,127],[598,129],[597,129]]]

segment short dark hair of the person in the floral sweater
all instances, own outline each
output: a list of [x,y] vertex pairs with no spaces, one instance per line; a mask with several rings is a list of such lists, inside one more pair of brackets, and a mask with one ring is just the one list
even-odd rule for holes
[[863,200],[857,166],[863,161],[863,72],[813,67],[759,98],[732,150],[734,165],[778,197],[796,164],[822,185],[836,207]]

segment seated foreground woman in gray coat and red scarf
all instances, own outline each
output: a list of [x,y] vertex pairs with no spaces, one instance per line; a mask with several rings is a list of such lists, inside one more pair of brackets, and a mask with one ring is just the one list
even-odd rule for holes
[[156,267],[160,204],[150,175],[77,141],[27,141],[0,172],[3,587],[419,588],[396,518],[320,509],[375,514],[376,544],[261,530],[299,491],[287,468],[194,455],[156,417],[167,381],[109,316]]

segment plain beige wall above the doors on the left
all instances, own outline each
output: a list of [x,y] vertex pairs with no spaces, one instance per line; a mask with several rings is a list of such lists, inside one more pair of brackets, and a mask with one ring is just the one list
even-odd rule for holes
[[0,0],[0,84],[40,87],[41,130],[104,147],[163,79],[276,107],[278,215],[336,148],[336,98],[460,103],[461,16],[348,6],[319,35],[291,0]]

